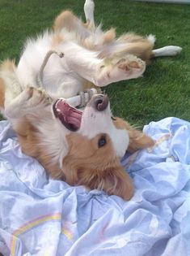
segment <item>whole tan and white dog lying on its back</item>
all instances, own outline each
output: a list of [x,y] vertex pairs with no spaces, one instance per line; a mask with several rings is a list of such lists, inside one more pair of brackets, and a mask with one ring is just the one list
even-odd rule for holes
[[[65,98],[96,86],[141,76],[146,62],[162,54],[176,54],[177,46],[153,50],[154,37],[126,34],[116,39],[113,29],[103,33],[94,24],[94,4],[87,0],[87,23],[70,11],[57,17],[52,32],[27,41],[16,67],[6,61],[0,67],[0,107],[11,121],[23,153],[32,156],[56,179],[129,200],[133,183],[120,165],[126,150],[154,145],[143,132],[125,120],[112,117],[108,97],[97,94],[84,111]],[[43,86],[37,76],[47,51],[52,56],[44,67]],[[29,86],[28,86],[29,85]]]

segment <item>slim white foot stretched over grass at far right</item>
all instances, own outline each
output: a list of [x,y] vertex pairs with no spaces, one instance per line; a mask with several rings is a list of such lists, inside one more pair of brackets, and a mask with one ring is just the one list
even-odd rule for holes
[[181,52],[182,48],[179,46],[165,46],[159,49],[152,50],[153,57],[175,56]]

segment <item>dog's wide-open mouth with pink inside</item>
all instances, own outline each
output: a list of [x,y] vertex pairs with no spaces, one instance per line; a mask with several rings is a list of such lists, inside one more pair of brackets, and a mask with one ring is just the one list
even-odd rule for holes
[[82,111],[70,106],[64,99],[58,99],[53,104],[53,113],[55,117],[60,119],[65,128],[72,132],[76,132],[81,125]]

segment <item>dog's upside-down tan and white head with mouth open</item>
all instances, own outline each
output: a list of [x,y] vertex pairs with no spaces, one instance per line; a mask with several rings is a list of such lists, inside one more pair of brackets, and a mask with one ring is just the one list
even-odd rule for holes
[[103,189],[129,200],[133,184],[120,159],[126,150],[138,150],[154,142],[133,130],[123,119],[112,118],[108,97],[95,95],[84,111],[65,100],[53,104],[57,122],[67,129],[68,153],[62,159],[65,180],[89,189]]

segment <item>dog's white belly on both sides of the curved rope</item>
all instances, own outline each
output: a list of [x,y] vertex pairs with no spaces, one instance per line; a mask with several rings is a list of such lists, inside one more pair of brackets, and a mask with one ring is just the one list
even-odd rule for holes
[[[49,44],[43,45],[44,37],[38,44],[35,41],[29,42],[19,60],[16,72],[22,89],[28,85],[39,86],[40,67],[45,55],[51,50],[52,38],[50,35],[46,40],[49,41]],[[51,98],[70,98],[83,90],[84,79],[70,70],[64,58],[59,59],[57,54],[53,54],[44,67],[42,84]]]

